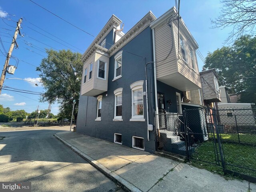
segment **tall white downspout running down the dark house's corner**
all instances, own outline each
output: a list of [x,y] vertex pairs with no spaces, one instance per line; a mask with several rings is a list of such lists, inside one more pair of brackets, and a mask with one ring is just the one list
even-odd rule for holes
[[152,37],[153,37],[153,60],[154,60],[154,88],[155,88],[155,105],[156,105],[156,128],[159,129],[158,124],[158,101],[157,101],[157,86],[156,86],[156,50],[155,50],[155,30],[152,29]]

